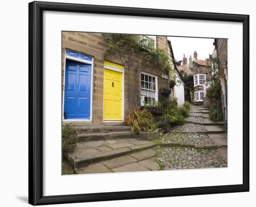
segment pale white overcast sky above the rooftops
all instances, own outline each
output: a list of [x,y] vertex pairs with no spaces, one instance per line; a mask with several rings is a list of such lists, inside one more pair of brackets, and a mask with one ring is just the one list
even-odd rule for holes
[[209,54],[211,54],[214,49],[214,39],[168,37],[168,40],[171,40],[175,59],[178,61],[182,60],[183,53],[185,53],[185,56],[188,58],[188,63],[189,55],[193,58],[194,51],[197,52],[197,59],[205,60],[205,58],[209,58]]

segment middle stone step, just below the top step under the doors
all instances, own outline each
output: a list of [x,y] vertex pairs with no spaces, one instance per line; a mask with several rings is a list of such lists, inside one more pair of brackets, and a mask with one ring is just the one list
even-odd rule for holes
[[131,132],[109,132],[94,134],[78,134],[78,140],[81,141],[98,141],[98,140],[114,140],[133,137]]

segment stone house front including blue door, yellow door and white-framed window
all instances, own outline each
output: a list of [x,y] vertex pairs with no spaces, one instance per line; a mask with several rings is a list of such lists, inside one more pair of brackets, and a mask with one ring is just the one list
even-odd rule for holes
[[[150,37],[170,54],[166,36]],[[106,57],[105,49],[101,33],[62,32],[64,121],[121,122],[133,107],[158,101],[160,89],[169,89],[165,70],[143,67],[135,74],[120,58]]]

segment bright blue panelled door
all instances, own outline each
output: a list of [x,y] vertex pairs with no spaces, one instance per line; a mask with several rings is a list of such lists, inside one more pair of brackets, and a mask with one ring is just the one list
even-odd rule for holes
[[90,119],[91,65],[66,60],[65,119]]

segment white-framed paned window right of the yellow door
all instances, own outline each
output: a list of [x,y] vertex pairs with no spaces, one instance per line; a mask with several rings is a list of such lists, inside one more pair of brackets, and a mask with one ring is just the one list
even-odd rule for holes
[[154,103],[157,100],[157,76],[149,73],[141,73],[141,106]]

